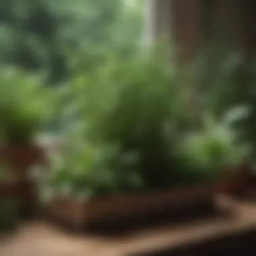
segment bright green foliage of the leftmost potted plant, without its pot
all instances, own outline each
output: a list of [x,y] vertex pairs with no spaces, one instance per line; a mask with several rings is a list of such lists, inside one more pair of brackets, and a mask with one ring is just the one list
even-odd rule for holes
[[46,99],[40,79],[14,69],[1,70],[1,143],[31,143],[50,113]]

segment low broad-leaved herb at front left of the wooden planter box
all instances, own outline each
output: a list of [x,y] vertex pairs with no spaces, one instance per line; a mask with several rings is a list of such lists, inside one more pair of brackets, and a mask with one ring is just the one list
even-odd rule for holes
[[135,191],[143,187],[135,169],[137,156],[119,156],[117,147],[69,144],[67,151],[51,156],[49,174],[43,179],[43,195],[88,198]]

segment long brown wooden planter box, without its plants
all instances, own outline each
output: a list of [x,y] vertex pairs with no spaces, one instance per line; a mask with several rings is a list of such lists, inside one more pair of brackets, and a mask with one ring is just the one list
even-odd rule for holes
[[57,222],[86,228],[106,222],[146,218],[163,212],[171,214],[182,210],[188,211],[195,205],[214,206],[214,195],[214,185],[194,185],[131,195],[95,197],[87,201],[59,197],[47,203],[45,210],[46,215]]

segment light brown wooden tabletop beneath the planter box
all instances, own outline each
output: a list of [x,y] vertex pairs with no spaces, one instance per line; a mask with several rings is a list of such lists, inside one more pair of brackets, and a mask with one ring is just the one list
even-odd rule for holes
[[214,237],[256,230],[256,202],[227,200],[232,218],[212,218],[179,225],[164,224],[123,236],[71,234],[34,220],[0,241],[0,256],[125,256],[182,247]]

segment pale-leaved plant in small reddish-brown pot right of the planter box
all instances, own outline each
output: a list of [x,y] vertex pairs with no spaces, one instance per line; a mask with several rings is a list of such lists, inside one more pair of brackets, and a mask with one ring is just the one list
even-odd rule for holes
[[181,147],[185,162],[205,179],[216,181],[220,192],[232,193],[245,185],[243,168],[250,161],[251,146],[241,141],[235,123],[247,114],[247,108],[238,107],[221,120],[205,115],[201,130],[189,133]]

